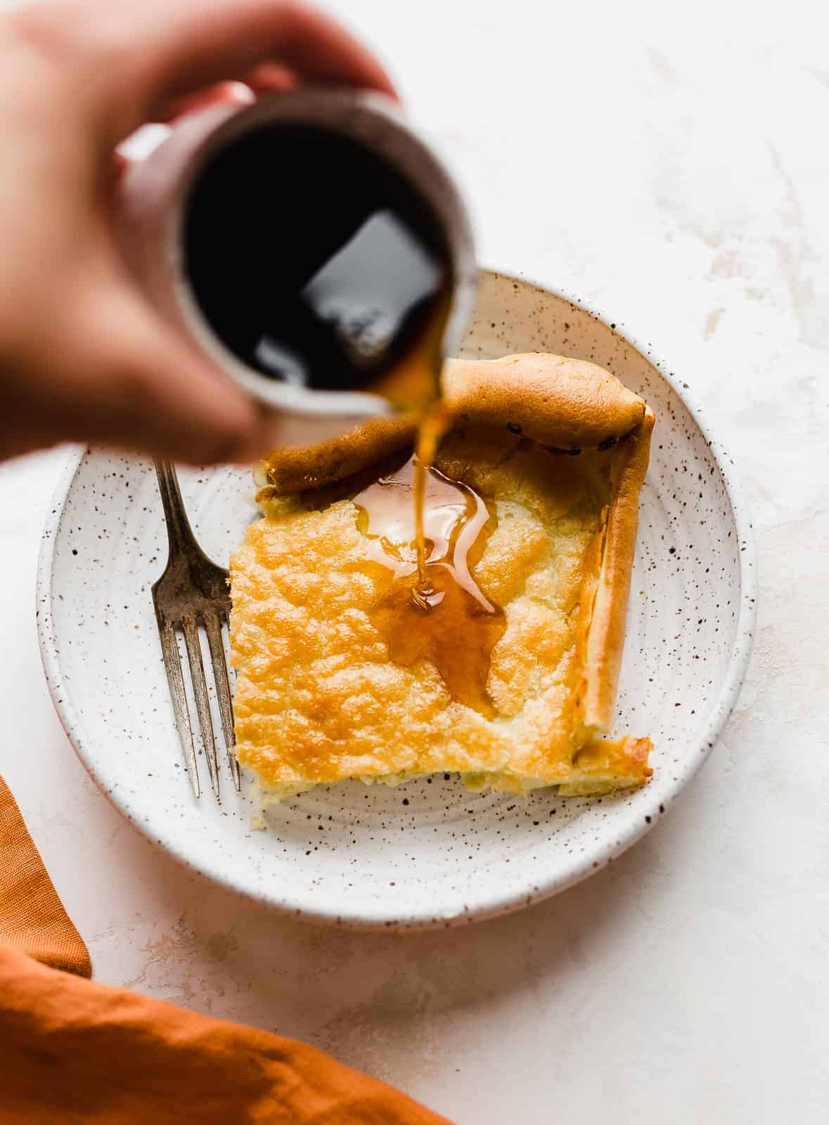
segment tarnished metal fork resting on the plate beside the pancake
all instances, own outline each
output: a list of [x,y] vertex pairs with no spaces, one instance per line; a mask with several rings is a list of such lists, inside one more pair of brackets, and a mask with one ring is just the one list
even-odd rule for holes
[[231,595],[227,590],[227,572],[216,566],[205,555],[190,528],[181,500],[179,479],[170,461],[156,459],[155,471],[159,476],[159,492],[164,505],[164,520],[169,555],[166,567],[161,578],[153,586],[153,604],[155,620],[159,623],[161,651],[164,656],[164,668],[170,684],[170,699],[179,728],[181,748],[184,752],[190,783],[196,796],[200,793],[199,774],[196,765],[196,741],[193,739],[190,712],[184,692],[184,677],[179,656],[177,631],[184,637],[192,694],[196,700],[196,714],[201,729],[201,740],[207,758],[207,770],[210,774],[210,785],[218,799],[218,758],[216,737],[210,719],[210,699],[205,678],[205,666],[201,660],[199,644],[199,626],[207,633],[213,665],[213,678],[216,684],[216,698],[222,717],[222,729],[227,747],[227,763],[236,789],[240,789],[238,762],[233,753],[233,701],[227,675],[225,647],[222,641],[222,624],[228,620],[231,612]]

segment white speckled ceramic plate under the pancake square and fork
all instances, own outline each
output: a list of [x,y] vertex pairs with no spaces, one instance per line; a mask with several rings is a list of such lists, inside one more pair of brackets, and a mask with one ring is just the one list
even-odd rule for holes
[[[484,273],[463,354],[551,351],[610,368],[656,410],[616,710],[650,735],[634,793],[529,800],[438,775],[397,789],[317,789],[251,828],[253,785],[225,773],[223,803],[195,800],[182,763],[150,596],[166,546],[152,468],[90,450],[73,459],[44,532],[40,650],[81,760],[112,803],[182,862],[281,910],[341,925],[433,926],[515,909],[618,856],[667,811],[733,705],[755,616],[747,515],[728,457],[687,385],[598,316],[525,281]],[[246,472],[182,472],[196,533],[226,565],[254,516]],[[202,773],[206,772],[202,768]]]

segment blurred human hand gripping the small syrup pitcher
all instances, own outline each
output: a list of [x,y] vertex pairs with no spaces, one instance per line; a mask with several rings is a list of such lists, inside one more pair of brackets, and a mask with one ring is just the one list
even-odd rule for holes
[[394,93],[326,17],[279,0],[63,0],[0,18],[0,458],[101,441],[177,460],[265,450],[260,408],[124,266],[116,146],[147,122],[305,80]]

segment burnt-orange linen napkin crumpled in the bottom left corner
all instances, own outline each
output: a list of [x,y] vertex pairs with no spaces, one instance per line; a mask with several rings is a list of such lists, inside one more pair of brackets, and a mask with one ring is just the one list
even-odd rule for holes
[[2,1125],[448,1125],[304,1043],[46,965],[90,974],[0,778]]

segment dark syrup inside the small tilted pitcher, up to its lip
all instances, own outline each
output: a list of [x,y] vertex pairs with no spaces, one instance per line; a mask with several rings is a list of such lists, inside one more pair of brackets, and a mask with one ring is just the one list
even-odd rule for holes
[[184,270],[215,334],[270,379],[369,390],[398,408],[434,369],[388,379],[451,291],[430,206],[390,163],[321,126],[270,124],[222,148],[184,206]]

